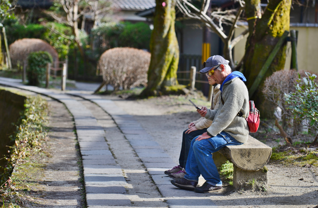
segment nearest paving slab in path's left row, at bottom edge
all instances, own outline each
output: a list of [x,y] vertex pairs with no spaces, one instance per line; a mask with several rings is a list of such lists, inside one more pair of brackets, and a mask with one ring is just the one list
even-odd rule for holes
[[123,194],[86,194],[87,206],[131,205],[130,200]]

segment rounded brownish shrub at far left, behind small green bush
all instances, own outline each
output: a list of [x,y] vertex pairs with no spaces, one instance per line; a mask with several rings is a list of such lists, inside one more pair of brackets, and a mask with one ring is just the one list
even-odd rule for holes
[[46,51],[53,59],[59,60],[56,50],[47,42],[41,39],[24,38],[16,40],[10,45],[10,56],[12,66],[17,66],[18,63],[23,65],[23,61],[28,58],[28,55],[36,51]]

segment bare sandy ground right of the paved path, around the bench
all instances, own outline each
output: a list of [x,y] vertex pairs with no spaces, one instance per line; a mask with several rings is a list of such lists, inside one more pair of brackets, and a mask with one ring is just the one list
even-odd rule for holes
[[[186,102],[187,99],[183,103],[176,103],[176,98],[173,97],[133,101],[116,97],[105,98],[114,99],[117,106],[134,115],[178,164],[182,132],[191,121],[199,118],[196,109]],[[278,144],[276,140],[264,138],[263,142],[273,147]],[[269,187],[265,192],[238,191],[229,194],[228,189],[224,189],[219,194],[211,194],[211,199],[224,208],[312,208],[318,205],[317,168],[287,167],[272,161],[266,166]]]

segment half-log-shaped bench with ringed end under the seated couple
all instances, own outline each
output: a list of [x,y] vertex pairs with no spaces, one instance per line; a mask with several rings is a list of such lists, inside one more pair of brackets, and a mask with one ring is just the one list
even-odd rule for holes
[[213,153],[217,167],[226,161],[233,163],[233,186],[235,189],[266,189],[266,163],[272,155],[272,148],[259,140],[248,137],[247,142],[237,146],[226,146]]

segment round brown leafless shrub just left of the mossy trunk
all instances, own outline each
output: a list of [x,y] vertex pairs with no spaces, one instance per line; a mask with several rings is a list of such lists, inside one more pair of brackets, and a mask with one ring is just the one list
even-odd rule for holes
[[106,84],[114,90],[126,90],[147,84],[150,53],[136,48],[112,48],[105,51],[98,62]]

